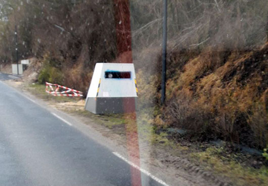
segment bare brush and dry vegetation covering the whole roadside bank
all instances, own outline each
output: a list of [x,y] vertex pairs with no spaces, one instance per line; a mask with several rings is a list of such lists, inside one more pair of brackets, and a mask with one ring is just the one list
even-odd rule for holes
[[[155,126],[183,128],[199,140],[220,138],[263,149],[268,142],[266,0],[168,1],[167,100],[159,104],[161,0],[130,0],[140,111]],[[96,62],[122,59],[113,1],[1,1],[0,58],[42,62],[39,82],[87,91]],[[5,5],[5,6],[4,6]],[[84,94],[86,95],[86,94]]]

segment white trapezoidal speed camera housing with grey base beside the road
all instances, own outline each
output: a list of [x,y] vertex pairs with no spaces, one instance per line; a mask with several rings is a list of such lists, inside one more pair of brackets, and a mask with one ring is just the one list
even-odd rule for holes
[[138,88],[133,64],[97,63],[85,110],[95,114],[136,111]]

